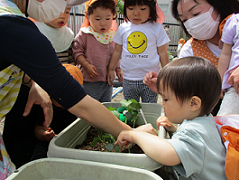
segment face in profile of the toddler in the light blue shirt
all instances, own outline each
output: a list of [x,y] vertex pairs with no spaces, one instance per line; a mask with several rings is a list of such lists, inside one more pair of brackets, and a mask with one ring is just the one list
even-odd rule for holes
[[[162,90],[162,83],[160,83],[160,90]],[[164,108],[165,116],[168,120],[175,124],[181,124],[184,119],[188,119],[190,115],[190,99],[183,103],[179,102],[175,93],[170,89],[160,92],[162,96],[162,107]]]

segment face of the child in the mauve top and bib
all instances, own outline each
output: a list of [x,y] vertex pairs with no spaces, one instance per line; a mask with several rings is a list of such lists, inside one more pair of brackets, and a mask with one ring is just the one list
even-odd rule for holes
[[110,9],[97,7],[93,14],[89,15],[90,26],[99,34],[104,34],[110,30],[113,22],[113,13]]

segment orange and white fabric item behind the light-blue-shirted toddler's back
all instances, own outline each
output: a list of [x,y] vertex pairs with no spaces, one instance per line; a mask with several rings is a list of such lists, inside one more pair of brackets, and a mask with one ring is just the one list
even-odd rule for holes
[[239,179],[239,115],[214,117],[227,147],[225,172],[228,180]]

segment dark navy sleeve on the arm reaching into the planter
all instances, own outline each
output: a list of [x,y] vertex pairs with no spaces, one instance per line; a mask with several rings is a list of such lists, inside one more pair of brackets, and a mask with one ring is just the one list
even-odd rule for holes
[[0,16],[0,60],[21,68],[66,109],[86,92],[61,65],[50,41],[20,16]]

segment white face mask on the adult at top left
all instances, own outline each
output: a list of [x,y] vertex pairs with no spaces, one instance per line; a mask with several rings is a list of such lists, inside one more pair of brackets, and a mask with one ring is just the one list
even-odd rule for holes
[[43,2],[29,0],[27,13],[36,21],[49,22],[64,13],[66,3],[65,0],[44,0]]

